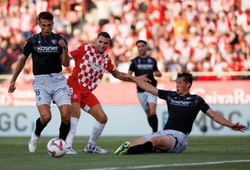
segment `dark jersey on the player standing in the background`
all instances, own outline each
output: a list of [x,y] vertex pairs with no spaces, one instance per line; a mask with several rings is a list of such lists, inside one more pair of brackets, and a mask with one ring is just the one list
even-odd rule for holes
[[[154,58],[147,56],[146,58],[141,58],[140,56],[134,58],[130,62],[129,71],[133,71],[135,76],[141,76],[143,74],[148,75],[148,79],[151,80],[150,84],[154,87],[157,85],[157,81],[154,78],[154,71],[157,71],[157,62]],[[144,92],[139,86],[137,86],[138,92]]]

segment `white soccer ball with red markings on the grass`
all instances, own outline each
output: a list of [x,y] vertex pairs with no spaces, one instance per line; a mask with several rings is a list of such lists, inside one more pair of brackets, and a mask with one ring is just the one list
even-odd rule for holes
[[47,144],[47,151],[54,158],[62,157],[66,150],[66,142],[60,138],[53,138]]

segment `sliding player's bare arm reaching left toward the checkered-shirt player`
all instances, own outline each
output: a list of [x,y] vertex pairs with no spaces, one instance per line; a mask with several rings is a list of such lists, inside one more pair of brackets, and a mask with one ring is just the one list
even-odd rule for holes
[[126,74],[126,73],[121,73],[122,77],[125,77],[127,79],[131,79],[133,82],[135,82],[138,86],[140,86],[143,90],[158,96],[158,90],[156,87],[152,86],[150,83],[148,83],[147,81],[142,80],[141,78],[138,77],[134,77],[130,74]]

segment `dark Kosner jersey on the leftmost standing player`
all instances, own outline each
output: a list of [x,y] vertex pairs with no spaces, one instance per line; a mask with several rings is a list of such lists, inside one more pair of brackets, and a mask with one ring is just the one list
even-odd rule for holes
[[41,33],[27,39],[23,54],[25,56],[32,54],[34,75],[60,73],[62,71],[60,57],[63,49],[58,45],[59,40],[64,40],[67,44],[65,38],[54,33],[48,39],[44,38]]

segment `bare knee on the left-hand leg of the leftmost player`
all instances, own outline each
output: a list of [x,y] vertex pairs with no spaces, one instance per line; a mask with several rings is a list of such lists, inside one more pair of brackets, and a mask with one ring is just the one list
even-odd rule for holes
[[47,104],[41,104],[37,106],[39,114],[40,114],[40,121],[43,125],[46,125],[51,120],[51,111],[50,106]]

